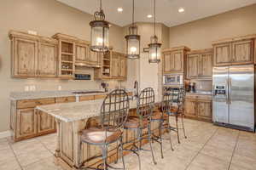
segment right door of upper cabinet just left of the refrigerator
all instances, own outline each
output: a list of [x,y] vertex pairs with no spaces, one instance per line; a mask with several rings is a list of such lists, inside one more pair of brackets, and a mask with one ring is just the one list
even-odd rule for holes
[[201,77],[212,77],[212,54],[201,54]]

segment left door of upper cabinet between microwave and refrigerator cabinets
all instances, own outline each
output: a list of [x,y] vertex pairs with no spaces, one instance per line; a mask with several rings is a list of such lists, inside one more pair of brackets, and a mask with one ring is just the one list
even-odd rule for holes
[[189,54],[187,57],[187,77],[196,78],[200,73],[200,54]]

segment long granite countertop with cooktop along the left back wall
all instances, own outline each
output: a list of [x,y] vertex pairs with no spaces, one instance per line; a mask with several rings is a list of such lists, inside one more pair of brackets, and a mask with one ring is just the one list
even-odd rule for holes
[[[133,89],[125,89],[127,92],[133,92]],[[102,89],[94,89],[94,90],[69,90],[69,91],[35,91],[35,92],[11,92],[9,98],[12,100],[20,100],[20,99],[45,99],[45,98],[60,98],[67,96],[86,96],[86,95],[101,95],[108,94],[112,91],[112,89],[108,89],[108,92],[105,93],[95,93],[95,94],[73,94],[73,92],[88,92],[88,91],[102,91]]]

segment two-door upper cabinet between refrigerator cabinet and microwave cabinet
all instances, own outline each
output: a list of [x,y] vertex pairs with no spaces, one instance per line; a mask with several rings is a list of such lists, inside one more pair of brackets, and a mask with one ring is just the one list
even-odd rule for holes
[[212,48],[190,51],[187,55],[188,79],[212,78]]

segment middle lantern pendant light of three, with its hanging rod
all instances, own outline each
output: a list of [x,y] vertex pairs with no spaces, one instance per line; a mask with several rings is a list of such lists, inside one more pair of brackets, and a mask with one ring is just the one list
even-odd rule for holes
[[129,35],[126,39],[126,55],[128,59],[140,58],[140,39],[137,35],[137,26],[134,23],[134,0],[132,0],[132,25],[129,27]]

